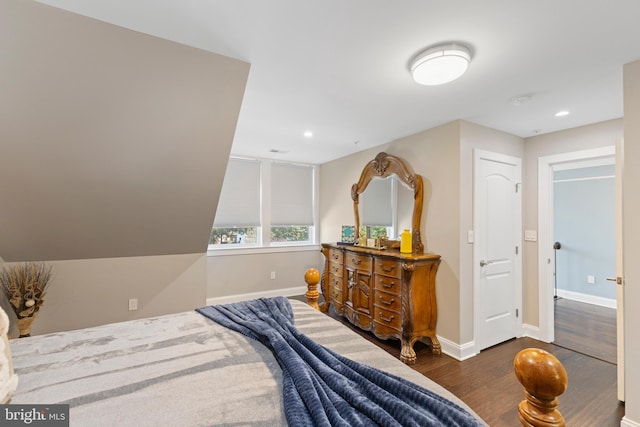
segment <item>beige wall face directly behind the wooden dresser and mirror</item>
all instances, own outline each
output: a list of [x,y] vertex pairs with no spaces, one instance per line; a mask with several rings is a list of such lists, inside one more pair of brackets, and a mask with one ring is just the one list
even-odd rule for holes
[[[340,240],[342,225],[354,224],[351,186],[362,168],[377,153],[385,151],[403,159],[424,180],[424,207],[421,221],[425,251],[442,256],[436,294],[438,334],[457,342],[459,337],[459,246],[457,224],[452,212],[459,209],[458,174],[459,124],[448,125],[396,140],[347,156],[320,167],[320,240]],[[402,225],[401,225],[402,227]],[[445,301],[453,301],[448,303]]]

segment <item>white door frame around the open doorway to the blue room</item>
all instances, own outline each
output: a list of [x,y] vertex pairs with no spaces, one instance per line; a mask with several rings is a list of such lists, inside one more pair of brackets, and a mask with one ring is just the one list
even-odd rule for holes
[[563,163],[615,156],[615,145],[538,158],[538,339],[555,339],[553,311],[553,172]]

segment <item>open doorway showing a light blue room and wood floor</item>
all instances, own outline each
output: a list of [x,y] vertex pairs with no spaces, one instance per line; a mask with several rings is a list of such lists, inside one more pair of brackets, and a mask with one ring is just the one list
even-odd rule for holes
[[554,344],[616,363],[615,158],[553,166]]

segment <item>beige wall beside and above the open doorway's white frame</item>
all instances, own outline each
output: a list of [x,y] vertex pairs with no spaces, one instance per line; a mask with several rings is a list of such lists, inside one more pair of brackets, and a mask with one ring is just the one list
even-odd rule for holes
[[[527,138],[524,144],[524,229],[538,230],[538,158],[614,146],[622,133],[622,119],[616,119]],[[524,242],[523,261],[524,322],[539,326],[538,242]]]

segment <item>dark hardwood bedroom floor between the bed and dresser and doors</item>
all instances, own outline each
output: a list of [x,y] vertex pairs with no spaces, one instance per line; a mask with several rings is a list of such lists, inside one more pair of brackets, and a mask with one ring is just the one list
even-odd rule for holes
[[[399,356],[399,341],[379,340],[344,319],[337,320],[390,354]],[[513,359],[520,350],[529,347],[552,353],[567,371],[569,385],[559,398],[559,409],[567,426],[620,425],[624,405],[617,400],[616,366],[554,344],[518,338],[460,362],[445,354],[433,355],[428,346],[418,342],[414,347],[417,362],[412,368],[459,396],[490,426],[514,427],[520,425],[517,406],[523,400],[523,390],[513,373]]]

